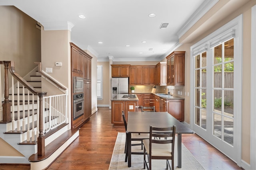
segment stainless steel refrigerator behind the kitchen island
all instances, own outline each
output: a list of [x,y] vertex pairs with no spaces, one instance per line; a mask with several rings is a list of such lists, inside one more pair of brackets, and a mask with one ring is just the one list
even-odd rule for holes
[[128,94],[128,78],[112,78],[111,82],[112,98],[117,94]]

